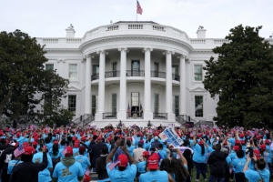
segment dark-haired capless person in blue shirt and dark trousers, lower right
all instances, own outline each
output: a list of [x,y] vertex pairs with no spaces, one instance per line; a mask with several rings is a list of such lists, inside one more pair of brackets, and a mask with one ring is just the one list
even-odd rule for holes
[[236,153],[237,157],[231,163],[236,182],[246,182],[246,177],[244,174],[244,167],[246,165],[246,159],[244,158],[245,154],[243,150],[238,150]]

